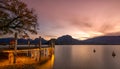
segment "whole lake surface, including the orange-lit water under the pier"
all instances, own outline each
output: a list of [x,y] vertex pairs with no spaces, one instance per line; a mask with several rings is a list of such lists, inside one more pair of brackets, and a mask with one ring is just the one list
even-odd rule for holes
[[[0,69],[120,69],[120,45],[56,45],[51,58],[49,49],[39,54],[39,49],[19,51],[16,64],[5,56]],[[44,59],[48,60],[40,64]]]

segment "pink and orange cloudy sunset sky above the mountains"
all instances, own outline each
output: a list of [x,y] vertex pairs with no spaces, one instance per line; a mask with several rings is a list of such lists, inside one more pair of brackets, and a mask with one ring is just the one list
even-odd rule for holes
[[23,1],[29,8],[35,9],[38,15],[38,33],[45,39],[71,35],[84,40],[120,33],[119,0]]

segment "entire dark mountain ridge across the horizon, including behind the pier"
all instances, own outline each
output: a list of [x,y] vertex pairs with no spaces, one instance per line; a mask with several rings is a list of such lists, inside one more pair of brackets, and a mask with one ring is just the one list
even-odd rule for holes
[[[9,44],[13,38],[0,38],[0,44]],[[39,38],[29,39],[30,44],[38,44]],[[87,40],[77,40],[70,35],[64,35],[55,39],[56,45],[120,45],[120,36],[99,36]],[[19,45],[28,44],[28,39],[18,39]],[[49,44],[49,40],[42,38],[42,44]]]

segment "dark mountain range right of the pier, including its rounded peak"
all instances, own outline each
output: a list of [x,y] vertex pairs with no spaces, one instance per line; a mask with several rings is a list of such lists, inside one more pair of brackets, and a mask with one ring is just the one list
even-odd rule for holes
[[119,45],[120,36],[99,36],[87,40],[77,40],[70,35],[65,35],[56,39],[58,45]]

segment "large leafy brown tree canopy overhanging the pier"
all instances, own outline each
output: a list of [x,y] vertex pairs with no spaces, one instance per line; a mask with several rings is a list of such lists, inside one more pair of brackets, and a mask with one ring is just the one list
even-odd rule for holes
[[0,0],[0,34],[36,33],[37,16],[20,0]]

